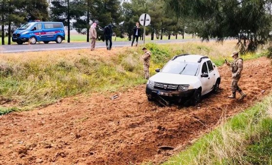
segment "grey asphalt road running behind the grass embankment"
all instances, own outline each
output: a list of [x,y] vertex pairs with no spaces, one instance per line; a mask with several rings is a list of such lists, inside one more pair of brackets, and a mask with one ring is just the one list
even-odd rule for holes
[[[184,39],[184,40],[155,40],[155,41],[146,41],[154,43],[179,43],[179,42],[188,42],[188,41],[200,41],[198,39]],[[139,41],[139,44],[143,41]],[[123,47],[130,46],[131,41],[113,41],[113,47]],[[105,42],[97,42],[96,47],[106,48]],[[49,42],[49,44],[37,43],[32,44],[22,44],[22,45],[1,45],[0,53],[16,53],[16,52],[35,52],[35,51],[45,51],[45,50],[63,50],[63,49],[85,49],[90,48],[90,42],[73,42],[73,43],[56,43]]]

